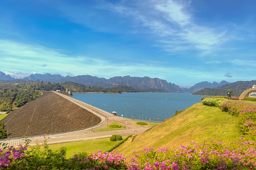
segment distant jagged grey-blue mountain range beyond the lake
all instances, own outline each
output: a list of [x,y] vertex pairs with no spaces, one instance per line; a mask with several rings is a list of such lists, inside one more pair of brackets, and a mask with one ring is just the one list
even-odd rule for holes
[[[0,71],[0,80],[15,80],[15,78],[6,75]],[[85,86],[101,86],[103,88],[116,87],[118,85],[130,86],[135,89],[147,90],[147,89],[162,89],[169,92],[188,92],[193,93],[204,88],[217,88],[228,84],[227,81],[217,82],[199,82],[190,88],[180,88],[177,84],[167,82],[166,80],[149,77],[130,77],[129,75],[124,77],[113,77],[109,79],[93,77],[91,75],[78,75],[75,77],[66,76],[63,77],[59,74],[30,74],[29,77],[23,78],[25,81],[50,81],[50,82],[67,82],[72,81],[76,83],[82,83]]]

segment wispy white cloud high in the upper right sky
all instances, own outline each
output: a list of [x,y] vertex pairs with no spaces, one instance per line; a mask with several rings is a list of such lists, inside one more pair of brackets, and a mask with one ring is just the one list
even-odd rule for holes
[[[133,3],[132,7],[125,2]],[[226,31],[218,32],[194,22],[189,12],[190,1],[122,1],[119,5],[110,4],[109,7],[125,16],[132,16],[139,21],[134,22],[137,27],[142,24],[150,28],[169,51],[211,50],[227,41]]]

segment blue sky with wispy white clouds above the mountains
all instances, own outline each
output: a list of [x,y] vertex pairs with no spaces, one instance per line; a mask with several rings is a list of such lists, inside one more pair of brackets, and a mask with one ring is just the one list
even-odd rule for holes
[[256,79],[256,1],[0,1],[0,71]]

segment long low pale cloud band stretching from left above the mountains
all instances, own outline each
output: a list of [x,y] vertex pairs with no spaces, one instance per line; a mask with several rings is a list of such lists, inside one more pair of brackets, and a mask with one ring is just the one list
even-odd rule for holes
[[[15,53],[14,53],[14,52]],[[32,73],[58,73],[62,75],[90,74],[97,77],[110,78],[114,76],[130,75],[168,79],[182,77],[209,78],[214,76],[201,71],[182,67],[164,67],[154,62],[141,63],[112,63],[94,56],[67,56],[61,50],[54,50],[39,45],[0,40],[0,57],[2,70],[15,78],[27,77]],[[47,67],[42,67],[47,63]],[[34,65],[34,66],[31,66]],[[22,72],[20,72],[22,70]],[[71,73],[70,73],[71,72]],[[189,72],[189,75],[188,75]],[[217,73],[216,73],[217,74]]]

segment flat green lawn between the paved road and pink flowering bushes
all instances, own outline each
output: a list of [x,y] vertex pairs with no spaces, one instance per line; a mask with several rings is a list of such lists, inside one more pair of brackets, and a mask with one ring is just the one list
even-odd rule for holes
[[[125,139],[123,137],[123,139]],[[50,145],[50,149],[56,151],[61,147],[65,147],[67,149],[67,158],[71,157],[73,154],[82,152],[83,150],[86,151],[98,151],[101,150],[102,152],[107,151],[111,147],[114,147],[120,141],[111,142],[109,138],[104,139],[96,139],[96,140],[87,140],[87,141],[79,141],[79,142],[70,142],[70,143],[60,143],[56,145]]]

